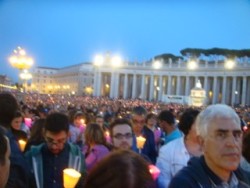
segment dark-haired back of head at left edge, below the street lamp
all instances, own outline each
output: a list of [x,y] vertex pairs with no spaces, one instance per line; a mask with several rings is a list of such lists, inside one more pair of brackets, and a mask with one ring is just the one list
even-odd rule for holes
[[10,123],[18,108],[17,100],[11,93],[0,93],[0,125],[10,128]]

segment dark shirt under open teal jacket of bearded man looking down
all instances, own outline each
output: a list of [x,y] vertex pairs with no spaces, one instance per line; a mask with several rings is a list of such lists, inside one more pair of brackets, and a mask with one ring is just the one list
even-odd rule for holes
[[62,188],[62,171],[68,167],[69,145],[66,143],[64,149],[58,155],[51,153],[48,146],[45,145],[42,148],[42,157],[44,187]]

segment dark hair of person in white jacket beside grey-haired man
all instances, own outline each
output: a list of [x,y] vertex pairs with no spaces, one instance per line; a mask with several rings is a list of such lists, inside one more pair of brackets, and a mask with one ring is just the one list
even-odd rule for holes
[[186,109],[181,115],[178,127],[184,133],[185,136],[189,133],[189,130],[194,124],[195,119],[199,113],[199,110],[189,108]]

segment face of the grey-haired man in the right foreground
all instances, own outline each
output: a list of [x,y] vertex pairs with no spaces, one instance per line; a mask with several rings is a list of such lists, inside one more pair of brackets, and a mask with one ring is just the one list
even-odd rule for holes
[[236,170],[242,145],[240,125],[228,118],[217,118],[207,133],[203,151],[209,168],[219,176]]

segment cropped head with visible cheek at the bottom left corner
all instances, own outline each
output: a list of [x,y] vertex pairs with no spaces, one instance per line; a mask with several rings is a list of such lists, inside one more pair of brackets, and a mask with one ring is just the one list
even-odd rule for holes
[[10,170],[10,144],[9,139],[0,131],[0,187],[5,187]]

